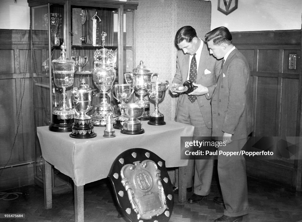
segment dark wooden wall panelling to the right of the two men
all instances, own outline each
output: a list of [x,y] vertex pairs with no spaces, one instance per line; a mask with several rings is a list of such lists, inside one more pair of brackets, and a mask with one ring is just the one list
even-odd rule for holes
[[[295,139],[301,127],[301,30],[232,32],[232,36],[251,69],[254,136]],[[296,69],[289,69],[290,54],[297,55]],[[301,191],[301,164],[297,159],[253,159],[246,166],[249,176]]]

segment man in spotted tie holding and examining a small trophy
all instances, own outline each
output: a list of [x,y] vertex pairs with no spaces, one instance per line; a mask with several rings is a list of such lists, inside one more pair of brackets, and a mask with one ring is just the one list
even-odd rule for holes
[[[185,81],[213,85],[217,80],[220,62],[210,55],[207,44],[197,37],[191,26],[180,28],[175,36],[175,45],[178,46],[177,70],[172,81],[172,87],[183,84]],[[172,91],[171,91],[172,92]],[[176,95],[177,93],[172,92]],[[210,137],[212,134],[212,118],[210,101],[201,95],[199,88],[190,94],[180,94],[178,98],[175,120],[194,126],[193,137]],[[198,203],[210,193],[213,174],[213,160],[195,160],[194,194],[188,202]],[[189,160],[187,173],[188,188],[192,187],[194,159]],[[178,189],[178,171],[174,191]]]

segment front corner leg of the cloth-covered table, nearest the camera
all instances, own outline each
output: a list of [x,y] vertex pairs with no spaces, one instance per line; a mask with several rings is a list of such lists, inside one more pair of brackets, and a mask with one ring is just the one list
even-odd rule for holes
[[84,222],[84,186],[74,186],[75,222]]

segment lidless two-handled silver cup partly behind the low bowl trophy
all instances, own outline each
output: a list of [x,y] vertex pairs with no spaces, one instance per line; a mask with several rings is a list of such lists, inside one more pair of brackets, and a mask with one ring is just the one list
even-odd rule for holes
[[[116,98],[120,104],[126,103],[126,101],[131,97],[134,92],[132,84],[116,84],[112,86],[113,97]],[[114,129],[123,129],[123,124],[127,120],[124,117],[122,109],[120,110],[120,116],[116,119],[116,124],[113,126]]]

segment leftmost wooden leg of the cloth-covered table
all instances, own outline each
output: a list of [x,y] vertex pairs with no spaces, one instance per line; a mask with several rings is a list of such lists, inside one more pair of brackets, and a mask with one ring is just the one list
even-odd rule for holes
[[44,187],[44,208],[53,208],[53,190],[51,184],[51,165],[43,159],[43,187]]

